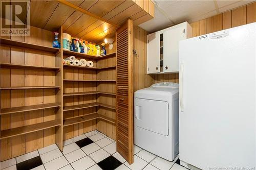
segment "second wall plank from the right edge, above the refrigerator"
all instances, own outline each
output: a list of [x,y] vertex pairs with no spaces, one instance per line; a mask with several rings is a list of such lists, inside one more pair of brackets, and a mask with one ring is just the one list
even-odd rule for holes
[[232,27],[246,24],[246,6],[232,10]]

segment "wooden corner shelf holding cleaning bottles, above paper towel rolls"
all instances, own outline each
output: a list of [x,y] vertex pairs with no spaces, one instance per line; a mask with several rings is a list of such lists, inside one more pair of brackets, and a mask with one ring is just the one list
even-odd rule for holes
[[107,55],[99,57],[99,56],[93,56],[93,55],[84,54],[84,53],[72,52],[72,51],[68,51],[68,50],[63,50],[63,54],[75,56],[75,57],[81,57],[81,58],[89,58],[89,59],[93,59],[93,60],[101,60],[101,59],[105,59],[105,58],[116,57],[116,53],[111,53],[111,54],[107,54]]

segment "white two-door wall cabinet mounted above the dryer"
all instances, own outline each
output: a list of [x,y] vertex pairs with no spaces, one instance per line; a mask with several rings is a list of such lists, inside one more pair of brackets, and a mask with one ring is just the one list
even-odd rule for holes
[[187,22],[147,35],[147,74],[179,72],[179,41],[190,38]]

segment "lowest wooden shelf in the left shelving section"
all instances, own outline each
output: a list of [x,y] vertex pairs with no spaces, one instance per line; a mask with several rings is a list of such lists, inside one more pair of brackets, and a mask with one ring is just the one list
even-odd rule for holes
[[42,122],[34,125],[28,125],[28,126],[23,126],[23,127],[18,127],[18,128],[13,128],[13,129],[7,129],[1,131],[1,139],[5,139],[8,137],[13,137],[13,136],[18,136],[18,135],[23,135],[39,130],[44,130],[56,126],[60,126],[59,120],[52,120],[48,122]]

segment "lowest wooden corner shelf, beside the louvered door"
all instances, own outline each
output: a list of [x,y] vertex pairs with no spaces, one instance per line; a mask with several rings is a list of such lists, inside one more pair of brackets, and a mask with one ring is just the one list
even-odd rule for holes
[[101,114],[95,113],[95,114],[89,114],[89,115],[85,115],[85,116],[80,116],[80,117],[75,117],[75,118],[70,118],[70,119],[64,120],[63,127],[69,126],[69,125],[74,125],[74,124],[79,124],[82,122],[87,122],[89,120],[94,120],[97,118],[107,120],[113,124],[116,123],[116,120],[113,118],[109,118],[109,117],[103,116]]

